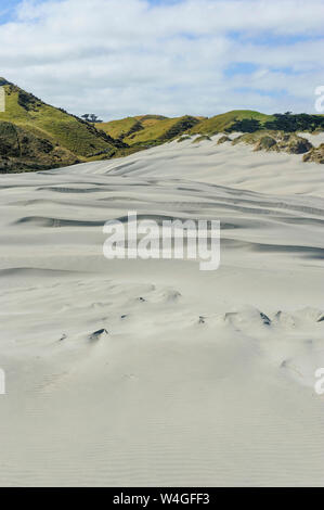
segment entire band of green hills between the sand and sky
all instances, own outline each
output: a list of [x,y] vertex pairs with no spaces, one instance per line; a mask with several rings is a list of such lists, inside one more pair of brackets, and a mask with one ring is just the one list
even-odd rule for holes
[[[210,140],[217,132],[256,133],[237,143],[258,143],[257,150],[311,151],[300,140],[286,140],[277,133],[323,131],[323,115],[265,115],[252,110],[233,110],[210,118],[184,115],[138,115],[119,120],[91,124],[62,109],[51,106],[31,93],[0,78],[5,90],[5,112],[0,112],[0,173],[59,168],[79,162],[124,157],[168,141]],[[276,135],[274,136],[273,133]],[[260,139],[262,139],[260,141]],[[229,140],[223,138],[222,142]],[[296,145],[297,144],[297,145]],[[295,145],[297,148],[295,148]],[[311,151],[304,161],[323,162],[323,149]]]

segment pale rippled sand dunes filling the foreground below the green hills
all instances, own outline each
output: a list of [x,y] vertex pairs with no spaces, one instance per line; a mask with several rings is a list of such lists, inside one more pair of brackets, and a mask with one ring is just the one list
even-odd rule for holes
[[[1,485],[323,485],[324,170],[217,139],[1,176]],[[105,259],[128,211],[220,268]]]

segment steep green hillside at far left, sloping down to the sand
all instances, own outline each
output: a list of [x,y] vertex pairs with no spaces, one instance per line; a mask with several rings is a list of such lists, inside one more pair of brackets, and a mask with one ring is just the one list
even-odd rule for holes
[[[90,123],[46,104],[3,78],[0,78],[0,86],[3,86],[5,90],[5,112],[0,112],[0,157],[2,160],[0,167],[2,171],[3,167],[15,166],[4,164],[3,158],[7,158],[8,163],[8,158],[11,161],[12,157],[21,157],[22,166],[25,165],[27,145],[29,163],[35,158],[35,164],[31,165],[35,169],[53,165],[50,156],[43,157],[41,150],[43,144],[39,140],[47,141],[48,146],[55,149],[52,153],[52,155],[55,153],[54,166],[63,166],[67,161],[68,163],[88,161],[96,155],[114,154],[116,149],[126,146],[120,140],[114,140]],[[11,150],[8,149],[8,144],[12,141],[12,137],[8,137],[8,133],[14,131],[13,127],[15,127],[17,138],[22,137],[25,140],[24,154],[17,155],[14,146]],[[13,153],[16,155],[13,156]]]

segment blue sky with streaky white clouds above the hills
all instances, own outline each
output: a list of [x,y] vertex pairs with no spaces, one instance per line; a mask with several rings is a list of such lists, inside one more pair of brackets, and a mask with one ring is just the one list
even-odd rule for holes
[[0,76],[70,113],[316,113],[324,0],[0,0]]

